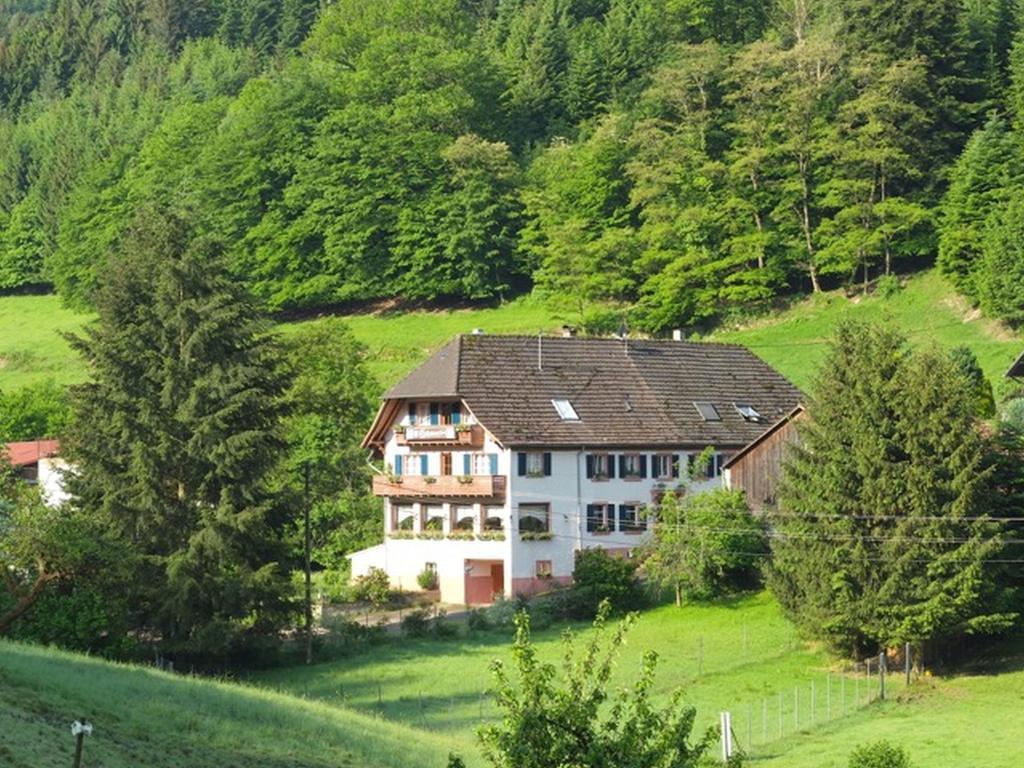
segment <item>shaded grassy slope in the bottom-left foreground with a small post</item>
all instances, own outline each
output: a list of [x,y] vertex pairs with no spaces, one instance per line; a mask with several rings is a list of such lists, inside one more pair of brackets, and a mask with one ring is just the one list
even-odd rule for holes
[[[440,768],[443,738],[282,693],[0,641],[0,765],[71,765],[87,718],[87,766]],[[410,749],[415,743],[416,749]]]

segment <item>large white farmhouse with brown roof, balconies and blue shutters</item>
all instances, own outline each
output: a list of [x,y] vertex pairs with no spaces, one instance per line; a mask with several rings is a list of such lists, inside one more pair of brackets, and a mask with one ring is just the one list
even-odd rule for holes
[[385,536],[353,575],[415,589],[435,570],[442,600],[470,604],[566,583],[577,550],[628,553],[659,494],[721,483],[801,398],[739,346],[459,336],[385,394],[365,438]]

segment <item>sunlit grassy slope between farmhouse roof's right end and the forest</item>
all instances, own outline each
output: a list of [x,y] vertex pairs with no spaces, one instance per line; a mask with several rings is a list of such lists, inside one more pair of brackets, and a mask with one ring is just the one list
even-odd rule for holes
[[996,387],[1024,350],[1019,335],[972,310],[934,269],[909,279],[899,294],[888,299],[849,299],[834,291],[800,301],[748,327],[719,331],[711,338],[749,346],[806,391],[824,357],[829,334],[846,318],[890,323],[914,344],[947,349],[966,344]]

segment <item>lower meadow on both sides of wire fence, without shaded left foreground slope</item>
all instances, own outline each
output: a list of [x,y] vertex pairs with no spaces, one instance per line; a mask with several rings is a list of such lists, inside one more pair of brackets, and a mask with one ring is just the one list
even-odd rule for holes
[[[557,663],[558,631],[536,634],[542,657]],[[418,733],[440,734],[472,757],[475,727],[496,714],[481,696],[490,680],[487,663],[507,657],[507,645],[500,634],[458,641],[403,639],[341,662],[265,673],[257,681],[378,714]],[[665,700],[682,686],[697,708],[701,729],[716,723],[722,710],[730,711],[736,738],[753,765],[844,768],[853,748],[883,737],[906,745],[915,768],[1024,764],[1024,742],[1009,737],[1024,702],[1021,648],[1009,649],[997,665],[977,674],[930,677],[909,689],[894,674],[889,700],[868,703],[877,678],[868,685],[862,672],[845,671],[800,642],[775,602],[762,594],[643,613],[620,660],[616,685],[634,679],[648,649],[660,654],[655,694]]]

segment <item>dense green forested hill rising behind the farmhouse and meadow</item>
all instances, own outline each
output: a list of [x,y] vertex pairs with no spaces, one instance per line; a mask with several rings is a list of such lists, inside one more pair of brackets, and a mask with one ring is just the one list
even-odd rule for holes
[[1020,13],[8,1],[0,290],[86,306],[174,208],[274,309],[536,287],[656,333],[938,258],[1020,323]]

